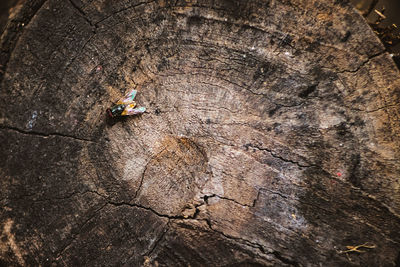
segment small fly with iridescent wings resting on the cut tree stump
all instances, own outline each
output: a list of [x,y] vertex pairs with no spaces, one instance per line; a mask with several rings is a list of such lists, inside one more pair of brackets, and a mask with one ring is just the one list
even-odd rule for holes
[[141,114],[146,111],[145,107],[136,107],[135,101],[133,99],[136,96],[137,91],[132,90],[128,94],[126,94],[123,98],[118,100],[118,102],[112,106],[111,108],[108,108],[107,114],[110,118],[118,118],[121,116],[129,116],[129,115],[135,115],[135,114]]

